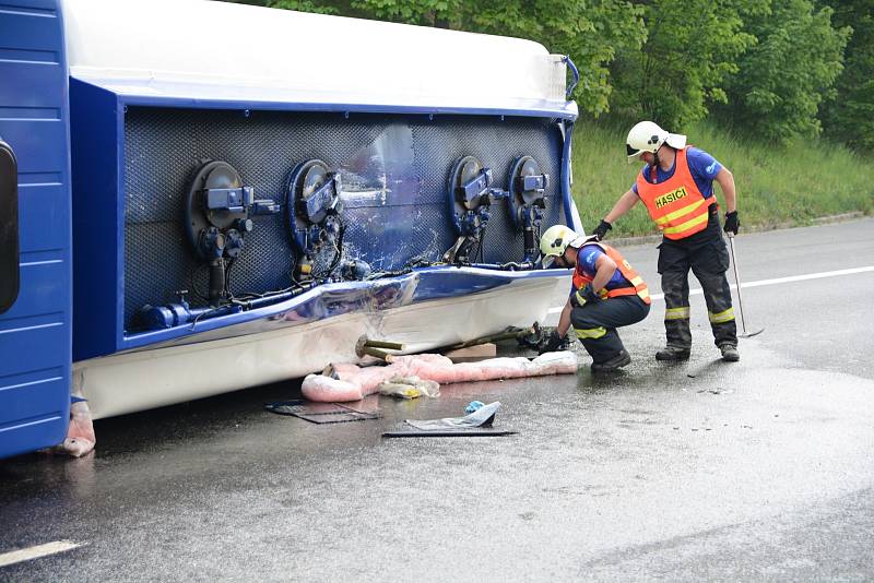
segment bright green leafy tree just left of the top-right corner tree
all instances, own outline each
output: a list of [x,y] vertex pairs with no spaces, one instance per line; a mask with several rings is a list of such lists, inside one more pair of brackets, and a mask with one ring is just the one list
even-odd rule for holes
[[819,104],[834,91],[849,36],[832,27],[831,14],[810,0],[780,0],[748,21],[758,41],[729,84],[727,114],[736,126],[778,143],[819,133]]

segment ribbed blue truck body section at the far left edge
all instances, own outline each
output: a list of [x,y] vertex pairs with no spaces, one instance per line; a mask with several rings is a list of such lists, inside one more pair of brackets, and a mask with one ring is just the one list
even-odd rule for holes
[[68,86],[58,1],[0,3],[0,457],[69,424]]

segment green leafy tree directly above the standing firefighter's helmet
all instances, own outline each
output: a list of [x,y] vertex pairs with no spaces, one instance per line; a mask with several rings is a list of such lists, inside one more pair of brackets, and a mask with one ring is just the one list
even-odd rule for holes
[[616,60],[615,109],[680,130],[725,103],[728,75],[755,44],[744,17],[764,11],[765,0],[638,0],[647,39],[639,51]]

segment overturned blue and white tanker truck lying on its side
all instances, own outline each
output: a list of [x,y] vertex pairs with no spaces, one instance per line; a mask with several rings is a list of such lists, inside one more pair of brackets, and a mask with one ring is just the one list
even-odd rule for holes
[[[572,63],[201,0],[0,7],[0,456],[122,415],[542,320]],[[575,80],[576,82],[576,80]],[[570,87],[572,90],[572,87]]]

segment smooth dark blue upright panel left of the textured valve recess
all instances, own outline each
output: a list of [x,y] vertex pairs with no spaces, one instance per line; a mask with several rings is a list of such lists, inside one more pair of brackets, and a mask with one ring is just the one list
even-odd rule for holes
[[[73,360],[119,349],[125,313],[123,159],[118,97],[70,80],[73,168]],[[108,245],[107,245],[108,242]]]

